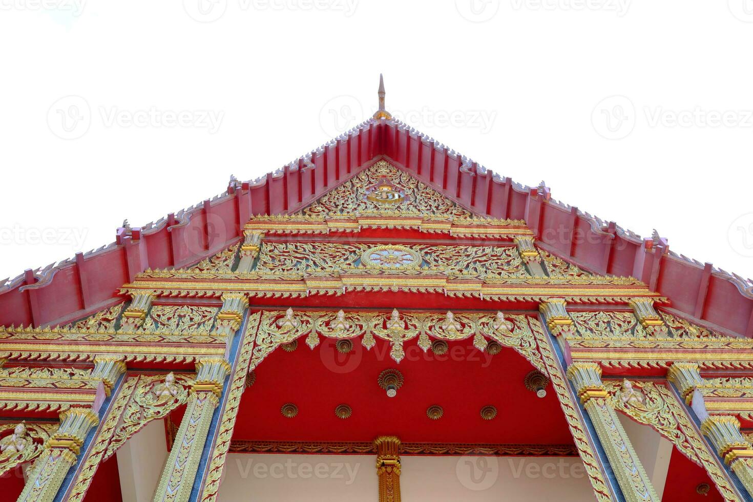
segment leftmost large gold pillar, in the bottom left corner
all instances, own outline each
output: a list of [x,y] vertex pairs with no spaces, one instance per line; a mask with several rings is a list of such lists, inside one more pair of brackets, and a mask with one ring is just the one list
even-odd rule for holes
[[96,413],[88,408],[69,408],[60,413],[60,426],[34,462],[18,500],[53,500],[69,469],[76,464],[87,434],[98,422]]

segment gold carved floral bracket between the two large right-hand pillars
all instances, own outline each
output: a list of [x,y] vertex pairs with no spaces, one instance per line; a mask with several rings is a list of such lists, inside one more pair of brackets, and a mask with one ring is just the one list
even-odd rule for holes
[[[614,409],[633,418],[639,424],[651,426],[671,441],[679,452],[703,467],[709,473],[709,477],[724,500],[741,500],[730,480],[709,453],[706,443],[672,391],[666,388],[666,385],[654,382],[633,381],[630,383],[633,388],[632,392],[637,394],[628,396],[623,381],[604,381]],[[641,398],[635,396],[641,396]]]

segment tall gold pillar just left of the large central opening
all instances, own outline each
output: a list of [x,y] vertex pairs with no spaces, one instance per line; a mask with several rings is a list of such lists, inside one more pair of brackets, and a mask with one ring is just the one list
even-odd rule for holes
[[212,415],[230,373],[230,364],[224,359],[202,359],[196,366],[196,383],[154,492],[154,502],[185,502],[191,496]]

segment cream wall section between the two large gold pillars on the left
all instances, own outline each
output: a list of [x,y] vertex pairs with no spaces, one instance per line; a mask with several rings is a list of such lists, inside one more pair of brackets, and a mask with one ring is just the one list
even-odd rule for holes
[[149,422],[115,455],[123,502],[151,502],[167,459],[164,421]]

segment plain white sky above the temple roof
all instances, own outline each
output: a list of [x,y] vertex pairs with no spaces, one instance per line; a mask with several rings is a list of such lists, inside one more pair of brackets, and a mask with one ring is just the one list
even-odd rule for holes
[[0,278],[279,168],[380,71],[437,141],[753,276],[753,0],[83,1],[0,0]]

